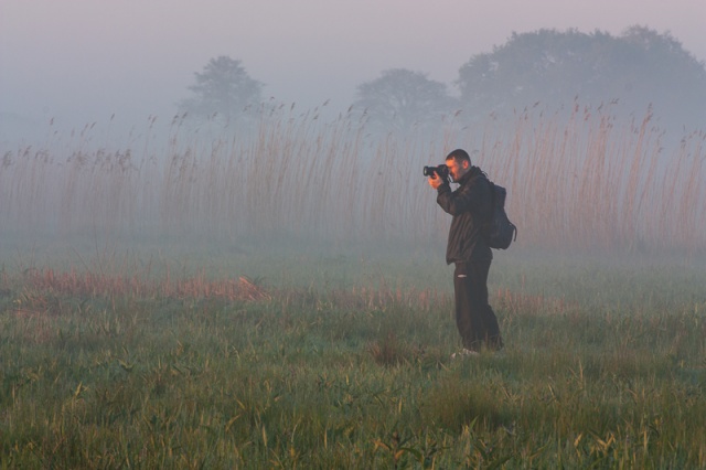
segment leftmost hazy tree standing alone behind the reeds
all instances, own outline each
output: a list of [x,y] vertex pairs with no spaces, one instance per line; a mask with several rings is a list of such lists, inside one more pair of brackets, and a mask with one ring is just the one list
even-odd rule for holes
[[240,61],[222,55],[208,61],[203,72],[194,75],[196,83],[189,87],[194,96],[180,103],[181,111],[229,120],[261,102],[263,84],[250,78]]

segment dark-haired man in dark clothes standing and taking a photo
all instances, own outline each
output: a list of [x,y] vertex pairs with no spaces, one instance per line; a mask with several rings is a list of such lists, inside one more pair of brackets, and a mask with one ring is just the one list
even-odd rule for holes
[[449,153],[446,165],[451,180],[460,186],[451,191],[449,182],[437,173],[429,177],[429,184],[437,190],[437,203],[453,216],[446,261],[456,265],[456,324],[463,343],[460,354],[475,355],[483,348],[498,351],[503,342],[498,319],[488,303],[488,273],[493,254],[482,231],[492,213],[492,189],[481,169],[471,165],[466,150]]

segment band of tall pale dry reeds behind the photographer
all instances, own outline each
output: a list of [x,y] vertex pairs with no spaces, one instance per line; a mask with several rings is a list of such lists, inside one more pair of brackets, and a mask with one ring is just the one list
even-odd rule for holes
[[[608,109],[608,106],[606,107]],[[3,149],[0,223],[17,233],[442,242],[448,217],[421,177],[456,147],[509,189],[518,245],[703,252],[704,131],[663,148],[650,111],[531,109],[483,131],[452,121],[436,137],[371,137],[350,116],[263,109],[255,126],[105,149],[90,127],[41,147]],[[151,125],[154,120],[151,120]]]

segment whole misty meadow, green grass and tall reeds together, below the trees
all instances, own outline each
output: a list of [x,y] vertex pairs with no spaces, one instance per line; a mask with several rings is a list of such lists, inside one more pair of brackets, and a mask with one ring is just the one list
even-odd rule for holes
[[[703,132],[291,113],[3,152],[1,468],[706,467]],[[421,175],[456,147],[520,227],[463,360]]]

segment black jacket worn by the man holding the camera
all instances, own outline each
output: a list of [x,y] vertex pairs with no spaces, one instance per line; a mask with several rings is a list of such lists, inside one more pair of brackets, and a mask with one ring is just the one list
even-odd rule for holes
[[446,261],[450,265],[491,260],[493,254],[482,233],[482,226],[492,213],[490,182],[480,168],[471,167],[458,183],[460,186],[453,192],[448,183],[437,190],[437,203],[453,216]]

